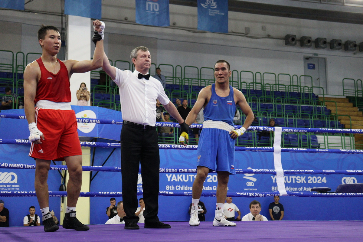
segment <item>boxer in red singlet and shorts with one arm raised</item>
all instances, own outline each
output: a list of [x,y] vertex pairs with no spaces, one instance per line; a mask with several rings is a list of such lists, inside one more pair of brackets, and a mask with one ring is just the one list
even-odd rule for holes
[[105,24],[95,20],[93,25],[92,40],[96,48],[92,61],[57,59],[61,48],[59,31],[54,26],[42,25],[38,30],[42,56],[27,65],[24,71],[24,107],[32,142],[29,156],[36,160],[34,186],[46,232],[59,229],[49,212],[47,179],[51,160],[65,160],[69,172],[63,227],[89,230],[76,218],[76,204],[82,185],[82,150],[76,115],[70,107],[69,79],[73,73],[84,73],[102,66]]

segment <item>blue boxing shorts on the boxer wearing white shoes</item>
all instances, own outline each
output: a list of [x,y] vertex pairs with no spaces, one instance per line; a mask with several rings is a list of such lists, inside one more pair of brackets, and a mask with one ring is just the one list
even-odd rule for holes
[[[210,171],[234,171],[234,142],[229,131],[220,128],[205,128],[200,133],[197,150],[197,167],[208,167]],[[216,168],[217,166],[217,168]]]

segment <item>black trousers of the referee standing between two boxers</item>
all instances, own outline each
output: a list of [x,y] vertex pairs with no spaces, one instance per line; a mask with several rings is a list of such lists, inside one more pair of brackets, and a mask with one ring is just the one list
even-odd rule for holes
[[[138,222],[137,186],[139,164],[145,210],[145,222],[159,221],[159,168],[160,156],[156,129],[143,129],[124,124],[121,130],[122,200],[125,222]],[[141,190],[141,189],[140,189]]]

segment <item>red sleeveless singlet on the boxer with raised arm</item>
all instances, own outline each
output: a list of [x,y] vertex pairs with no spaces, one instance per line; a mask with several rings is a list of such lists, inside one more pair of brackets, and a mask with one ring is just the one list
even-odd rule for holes
[[37,94],[34,103],[40,100],[49,100],[52,102],[70,102],[72,97],[70,94],[70,82],[67,67],[59,59],[57,61],[61,65],[61,69],[57,74],[48,71],[41,58],[37,59],[40,67],[41,76],[37,83]]

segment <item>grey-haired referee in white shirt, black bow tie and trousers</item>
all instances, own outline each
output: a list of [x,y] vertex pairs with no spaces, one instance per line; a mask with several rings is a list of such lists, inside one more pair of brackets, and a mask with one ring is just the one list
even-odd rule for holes
[[151,66],[149,50],[140,46],[132,50],[130,58],[135,71],[120,70],[111,66],[105,54],[102,68],[119,87],[123,125],[121,130],[122,200],[126,216],[125,229],[139,229],[135,215],[139,164],[143,198],[145,201],[145,228],[168,229],[170,225],[158,218],[159,199],[159,146],[156,132],[156,99],[163,104],[188,133],[189,127],[165,94],[162,84],[148,73]]

